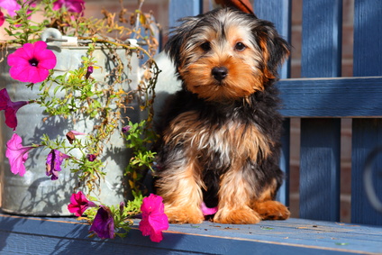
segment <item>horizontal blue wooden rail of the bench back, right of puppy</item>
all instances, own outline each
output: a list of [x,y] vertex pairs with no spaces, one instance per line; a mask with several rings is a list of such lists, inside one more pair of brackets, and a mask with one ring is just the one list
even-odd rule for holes
[[287,117],[382,116],[382,77],[282,79],[277,87]]

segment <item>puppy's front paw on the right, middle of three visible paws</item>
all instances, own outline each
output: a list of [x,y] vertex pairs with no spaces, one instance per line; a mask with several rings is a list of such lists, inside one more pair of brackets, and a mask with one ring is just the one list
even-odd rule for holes
[[214,223],[255,224],[261,220],[258,213],[248,206],[236,209],[222,208],[214,215]]

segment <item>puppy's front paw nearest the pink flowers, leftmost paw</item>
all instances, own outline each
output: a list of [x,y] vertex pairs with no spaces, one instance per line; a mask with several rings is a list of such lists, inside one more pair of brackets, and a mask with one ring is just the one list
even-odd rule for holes
[[169,223],[202,223],[205,217],[199,208],[175,207],[165,205],[165,214],[168,216]]

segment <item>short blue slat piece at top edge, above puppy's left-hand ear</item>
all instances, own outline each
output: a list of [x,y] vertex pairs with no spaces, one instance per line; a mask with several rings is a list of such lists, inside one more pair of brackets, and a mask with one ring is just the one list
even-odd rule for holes
[[201,14],[203,9],[203,0],[169,0],[168,3],[168,25],[177,26],[177,20],[187,16]]

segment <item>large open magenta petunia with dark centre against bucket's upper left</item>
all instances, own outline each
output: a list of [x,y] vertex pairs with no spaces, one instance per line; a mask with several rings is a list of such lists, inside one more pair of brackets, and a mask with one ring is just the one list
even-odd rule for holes
[[47,49],[45,41],[25,43],[8,56],[9,74],[22,82],[38,83],[49,76],[49,70],[56,66],[53,51]]

